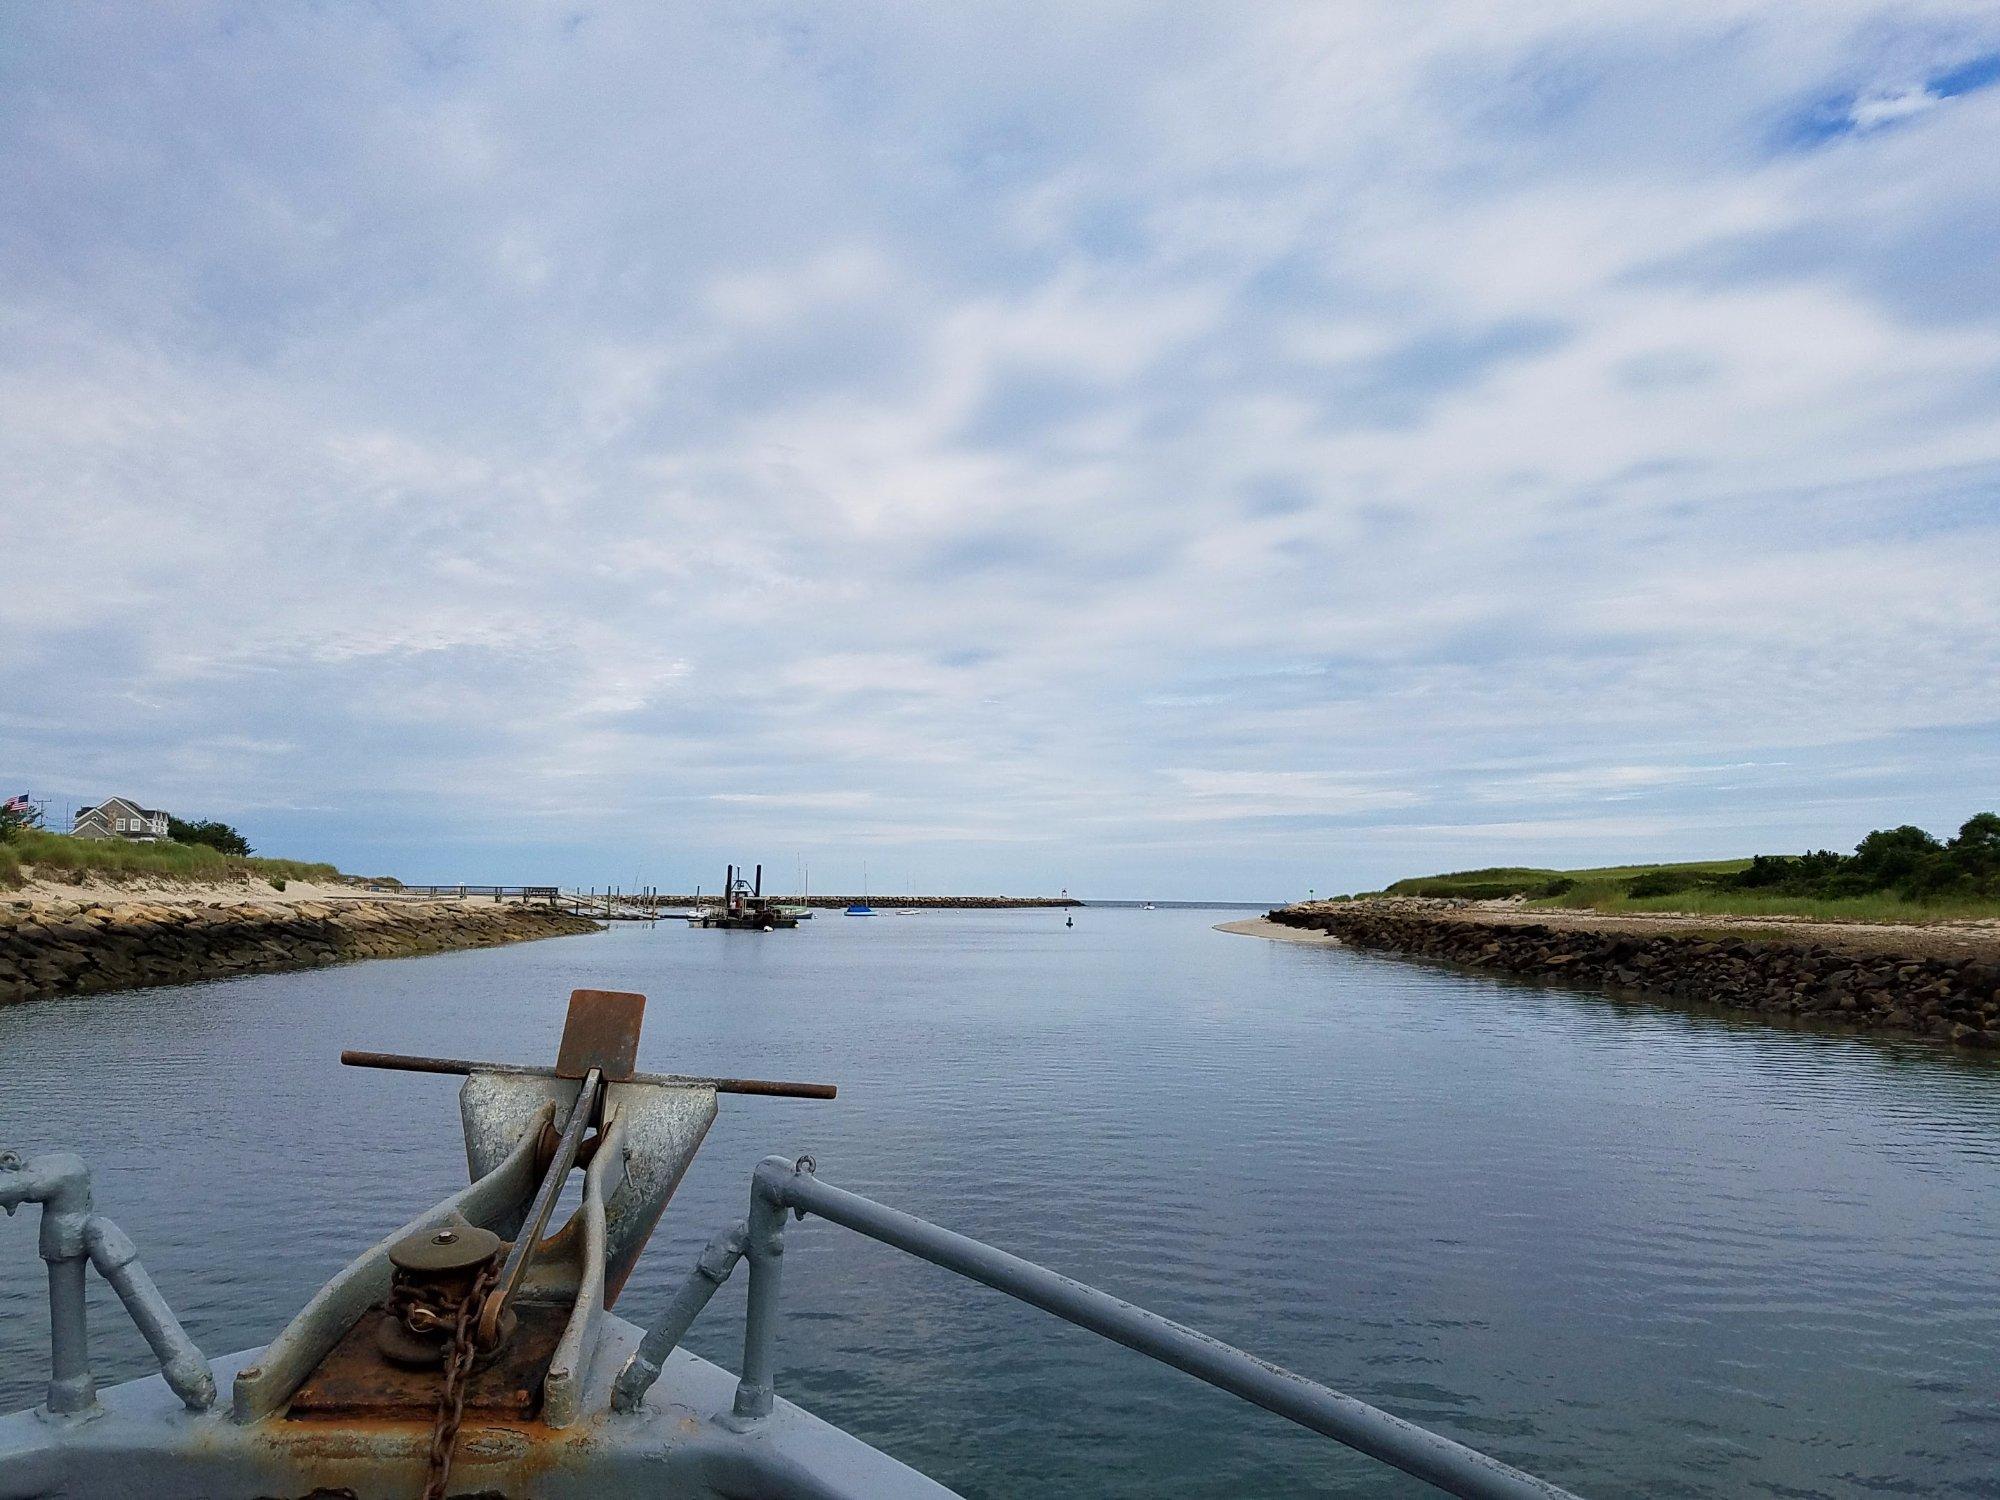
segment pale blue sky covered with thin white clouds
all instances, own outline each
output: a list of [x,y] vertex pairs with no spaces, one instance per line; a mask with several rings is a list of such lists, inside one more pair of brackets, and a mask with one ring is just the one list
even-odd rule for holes
[[0,790],[682,890],[1948,832],[1996,238],[1990,0],[8,6]]

